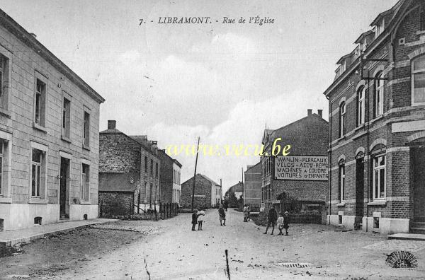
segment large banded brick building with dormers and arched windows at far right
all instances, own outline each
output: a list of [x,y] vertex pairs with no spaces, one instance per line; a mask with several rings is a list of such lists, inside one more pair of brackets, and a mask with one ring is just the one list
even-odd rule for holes
[[371,26],[324,91],[328,223],[407,233],[425,222],[425,2],[401,0]]

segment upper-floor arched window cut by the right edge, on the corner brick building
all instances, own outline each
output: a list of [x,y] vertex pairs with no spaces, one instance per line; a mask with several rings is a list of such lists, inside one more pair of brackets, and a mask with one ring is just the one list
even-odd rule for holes
[[412,105],[425,104],[425,55],[412,62]]

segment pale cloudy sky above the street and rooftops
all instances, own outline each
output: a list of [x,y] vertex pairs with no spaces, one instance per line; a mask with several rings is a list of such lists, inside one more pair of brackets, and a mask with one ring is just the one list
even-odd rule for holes
[[[278,129],[307,109],[327,119],[322,93],[336,61],[396,2],[1,0],[0,8],[106,98],[101,130],[115,119],[121,132],[166,148],[198,136],[201,144],[261,144],[266,125]],[[159,24],[166,16],[211,23]],[[255,16],[274,22],[222,23]],[[174,158],[181,182],[193,176],[193,155]],[[197,173],[222,179],[225,191],[258,162],[200,153]]]

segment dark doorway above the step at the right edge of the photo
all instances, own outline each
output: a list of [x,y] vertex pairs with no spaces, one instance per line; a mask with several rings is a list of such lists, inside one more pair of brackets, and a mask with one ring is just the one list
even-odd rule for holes
[[425,222],[425,146],[411,147],[413,171],[413,221]]

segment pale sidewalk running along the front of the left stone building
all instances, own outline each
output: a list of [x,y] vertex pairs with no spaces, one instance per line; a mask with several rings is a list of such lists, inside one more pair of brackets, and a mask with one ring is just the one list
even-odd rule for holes
[[0,247],[10,247],[17,243],[26,243],[31,240],[42,238],[50,233],[60,233],[83,226],[96,225],[100,223],[111,223],[119,220],[112,218],[94,218],[82,221],[67,221],[62,223],[50,223],[48,225],[33,226],[16,231],[4,231],[0,233]]

